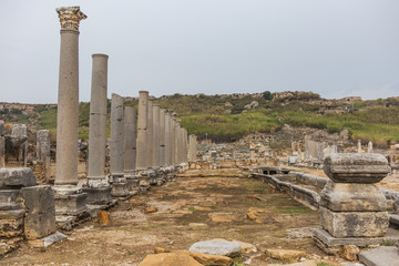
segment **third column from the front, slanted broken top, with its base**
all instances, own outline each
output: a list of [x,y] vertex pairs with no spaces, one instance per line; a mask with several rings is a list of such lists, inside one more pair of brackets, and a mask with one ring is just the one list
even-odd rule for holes
[[111,141],[110,141],[110,177],[112,195],[129,195],[126,178],[123,172],[123,104],[124,99],[112,93],[111,100]]

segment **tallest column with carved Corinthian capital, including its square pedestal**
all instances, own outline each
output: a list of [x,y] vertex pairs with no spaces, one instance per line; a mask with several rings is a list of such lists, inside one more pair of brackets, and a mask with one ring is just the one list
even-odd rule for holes
[[58,216],[79,218],[88,211],[78,185],[79,23],[86,16],[79,7],[57,9],[61,23],[60,76],[57,112],[54,203]]

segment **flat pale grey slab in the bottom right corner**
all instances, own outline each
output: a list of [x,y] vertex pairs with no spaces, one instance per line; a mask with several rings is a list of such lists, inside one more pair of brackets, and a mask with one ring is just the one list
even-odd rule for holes
[[399,250],[395,246],[381,246],[359,253],[359,260],[367,266],[398,266]]

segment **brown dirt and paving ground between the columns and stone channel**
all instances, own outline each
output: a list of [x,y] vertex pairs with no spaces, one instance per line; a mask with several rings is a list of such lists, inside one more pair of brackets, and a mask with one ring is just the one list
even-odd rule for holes
[[[157,212],[145,213],[150,206]],[[257,208],[259,223],[246,217],[250,207]],[[178,177],[120,202],[110,213],[106,226],[93,218],[48,248],[23,243],[0,265],[137,265],[154,247],[188,249],[213,238],[255,245],[257,252],[238,260],[252,258],[256,266],[283,263],[266,257],[266,248],[326,256],[309,237],[309,228],[319,226],[318,213],[253,178]]]

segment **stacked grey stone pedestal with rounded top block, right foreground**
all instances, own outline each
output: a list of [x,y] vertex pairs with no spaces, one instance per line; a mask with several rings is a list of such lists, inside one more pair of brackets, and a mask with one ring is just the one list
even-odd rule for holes
[[[372,183],[390,172],[385,156],[337,153],[326,157],[324,167],[331,181],[320,194],[320,223],[325,233],[318,229],[316,238],[317,235],[340,239],[383,237],[389,225],[387,200]],[[324,239],[319,237],[317,243],[331,248],[331,242]]]

